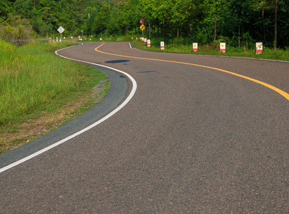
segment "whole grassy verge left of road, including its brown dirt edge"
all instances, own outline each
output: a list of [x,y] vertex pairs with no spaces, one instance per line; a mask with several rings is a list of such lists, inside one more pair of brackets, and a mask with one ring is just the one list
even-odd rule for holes
[[106,74],[54,54],[71,45],[0,41],[0,153],[71,121],[108,91]]

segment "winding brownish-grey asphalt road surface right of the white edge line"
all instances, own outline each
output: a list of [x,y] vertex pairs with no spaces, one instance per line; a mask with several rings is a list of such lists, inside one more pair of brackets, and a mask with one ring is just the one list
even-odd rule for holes
[[0,213],[289,213],[289,63],[100,45],[59,54],[125,71],[136,93],[0,173]]

